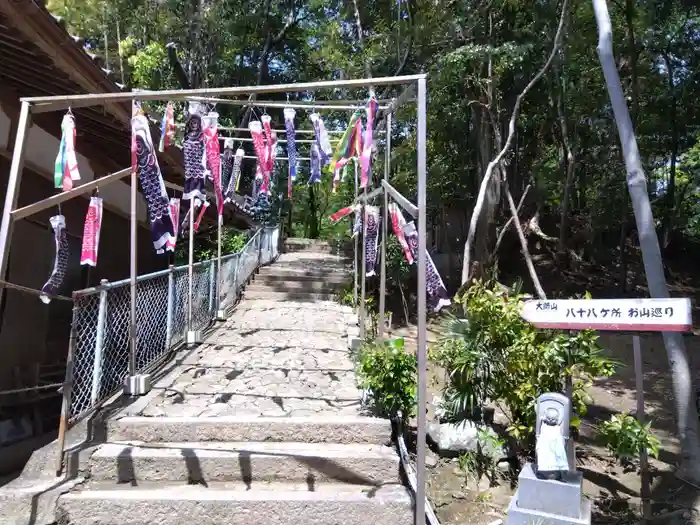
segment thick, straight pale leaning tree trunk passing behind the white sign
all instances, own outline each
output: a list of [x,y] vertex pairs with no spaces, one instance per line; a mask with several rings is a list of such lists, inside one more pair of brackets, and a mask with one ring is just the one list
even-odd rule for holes
[[[647,193],[646,178],[637,147],[637,139],[630,118],[620,76],[615,64],[612,48],[612,24],[605,0],[593,0],[598,23],[598,56],[603,68],[610,102],[615,114],[622,152],[627,169],[627,186],[632,199],[639,233],[639,244],[644,261],[649,292],[652,297],[668,297],[659,240],[654,228],[654,219]],[[693,403],[693,381],[688,365],[688,356],[683,337],[676,332],[663,334],[669,366],[673,378],[673,393],[676,402],[678,434],[681,442],[682,463],[679,477],[700,483],[700,444],[698,443],[698,416]]]

